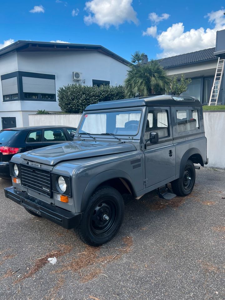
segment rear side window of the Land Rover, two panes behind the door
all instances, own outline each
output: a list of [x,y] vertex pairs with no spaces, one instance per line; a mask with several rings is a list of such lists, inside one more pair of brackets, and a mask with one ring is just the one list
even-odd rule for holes
[[178,132],[199,129],[198,110],[177,110],[177,126]]

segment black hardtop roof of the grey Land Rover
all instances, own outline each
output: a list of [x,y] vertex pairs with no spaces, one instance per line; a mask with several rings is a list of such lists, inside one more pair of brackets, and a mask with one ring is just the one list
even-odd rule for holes
[[138,106],[202,106],[202,104],[195,97],[160,95],[98,102],[86,107],[85,111]]

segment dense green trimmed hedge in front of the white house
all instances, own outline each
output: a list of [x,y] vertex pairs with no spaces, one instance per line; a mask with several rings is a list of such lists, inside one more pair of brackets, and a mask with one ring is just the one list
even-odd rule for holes
[[124,99],[123,86],[103,85],[100,87],[68,84],[58,90],[58,103],[65,113],[83,113],[84,109],[98,101]]

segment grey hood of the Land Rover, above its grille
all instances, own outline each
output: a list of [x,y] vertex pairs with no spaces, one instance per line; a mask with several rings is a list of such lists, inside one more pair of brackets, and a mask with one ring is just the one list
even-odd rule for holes
[[54,166],[65,160],[135,151],[133,144],[77,141],[24,152],[21,158]]

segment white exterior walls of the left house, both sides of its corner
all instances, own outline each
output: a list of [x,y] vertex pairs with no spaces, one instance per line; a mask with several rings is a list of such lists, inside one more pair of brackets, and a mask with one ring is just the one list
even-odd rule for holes
[[[63,85],[75,83],[72,80],[73,71],[82,72],[85,85],[92,86],[92,79],[107,80],[110,85],[123,84],[127,70],[128,66],[97,51],[15,52],[0,58],[0,75],[14,71],[56,75],[56,95]],[[0,129],[1,117],[16,117],[17,126],[27,126],[28,114],[36,113],[38,109],[60,111],[58,101],[3,102],[1,84],[0,80]],[[19,113],[21,111],[22,115]]]

